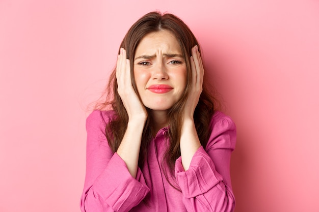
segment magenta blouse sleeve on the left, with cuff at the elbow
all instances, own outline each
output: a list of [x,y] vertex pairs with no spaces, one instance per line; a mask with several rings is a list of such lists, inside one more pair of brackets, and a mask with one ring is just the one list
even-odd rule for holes
[[[105,111],[104,111],[105,112]],[[99,110],[87,118],[87,165],[81,197],[83,212],[129,211],[149,192],[141,170],[132,177],[125,162],[113,154],[105,136],[110,115]]]

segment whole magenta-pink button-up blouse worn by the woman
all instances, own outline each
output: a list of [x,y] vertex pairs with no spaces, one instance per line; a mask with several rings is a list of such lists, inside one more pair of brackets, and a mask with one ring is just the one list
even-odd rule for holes
[[197,150],[187,171],[179,157],[175,162],[175,176],[169,177],[168,181],[164,175],[168,167],[163,170],[161,165],[168,129],[161,129],[152,139],[147,161],[138,168],[134,178],[124,161],[112,153],[105,137],[105,125],[113,114],[113,111],[95,110],[87,118],[83,212],[234,210],[229,166],[236,142],[236,127],[229,116],[215,112],[206,148],[201,146]]

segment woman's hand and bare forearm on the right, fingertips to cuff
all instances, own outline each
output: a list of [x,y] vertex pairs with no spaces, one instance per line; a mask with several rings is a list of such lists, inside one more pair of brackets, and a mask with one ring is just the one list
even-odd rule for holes
[[185,171],[189,169],[194,154],[201,146],[195,128],[194,111],[203,90],[204,68],[197,46],[192,48],[191,67],[192,86],[184,107],[183,125],[180,136],[181,161]]

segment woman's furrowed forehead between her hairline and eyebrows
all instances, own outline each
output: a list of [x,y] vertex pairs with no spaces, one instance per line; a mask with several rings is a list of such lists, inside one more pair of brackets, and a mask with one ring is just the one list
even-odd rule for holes
[[152,55],[158,51],[163,53],[182,54],[180,45],[175,36],[167,30],[162,30],[144,36],[136,48],[135,55]]

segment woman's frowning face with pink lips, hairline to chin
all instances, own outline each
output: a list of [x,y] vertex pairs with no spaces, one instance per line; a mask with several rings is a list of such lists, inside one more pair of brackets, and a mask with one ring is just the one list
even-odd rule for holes
[[145,107],[168,110],[186,87],[187,68],[172,33],[162,30],[146,35],[136,48],[134,77]]

